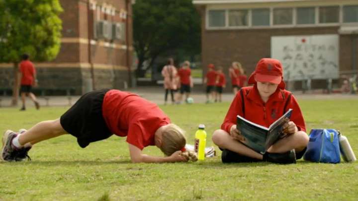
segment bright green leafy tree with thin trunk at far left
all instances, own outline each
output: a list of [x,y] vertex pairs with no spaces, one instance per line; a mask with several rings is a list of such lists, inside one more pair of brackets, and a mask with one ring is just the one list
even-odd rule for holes
[[20,55],[27,53],[36,62],[57,56],[61,12],[59,0],[0,0],[0,62],[13,64],[12,105],[17,105]]

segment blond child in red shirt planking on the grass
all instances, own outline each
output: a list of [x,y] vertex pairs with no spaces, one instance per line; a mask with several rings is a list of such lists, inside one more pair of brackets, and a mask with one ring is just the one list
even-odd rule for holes
[[[31,146],[42,140],[71,134],[85,148],[112,134],[126,136],[132,162],[186,162],[180,150],[185,146],[183,131],[171,124],[154,103],[119,90],[97,90],[83,95],[60,119],[44,121],[22,134],[6,131],[2,137],[2,159],[18,161],[28,157]],[[142,153],[155,145],[167,157]]]

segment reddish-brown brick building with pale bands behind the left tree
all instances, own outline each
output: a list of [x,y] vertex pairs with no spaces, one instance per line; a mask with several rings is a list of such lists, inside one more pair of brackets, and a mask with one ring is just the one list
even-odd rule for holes
[[[132,82],[132,1],[60,0],[61,50],[54,61],[35,63],[39,87],[124,88]],[[11,88],[12,64],[0,64]],[[11,81],[10,81],[11,80]]]

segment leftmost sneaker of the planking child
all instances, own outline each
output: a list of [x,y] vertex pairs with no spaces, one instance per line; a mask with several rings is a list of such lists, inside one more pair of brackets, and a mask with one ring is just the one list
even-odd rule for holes
[[2,160],[5,161],[15,160],[14,155],[16,153],[16,149],[12,145],[11,141],[16,136],[17,134],[11,130],[5,131],[5,133],[2,135],[2,151],[1,151]]

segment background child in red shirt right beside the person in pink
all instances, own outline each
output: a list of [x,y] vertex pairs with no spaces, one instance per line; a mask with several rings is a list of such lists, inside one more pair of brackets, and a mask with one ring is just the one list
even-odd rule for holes
[[184,92],[185,101],[190,97],[190,88],[193,87],[189,61],[184,62],[183,66],[178,71],[178,75],[180,77],[180,95],[178,97],[178,103],[180,103]]

